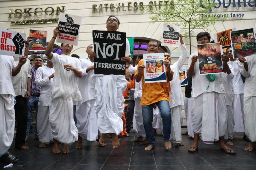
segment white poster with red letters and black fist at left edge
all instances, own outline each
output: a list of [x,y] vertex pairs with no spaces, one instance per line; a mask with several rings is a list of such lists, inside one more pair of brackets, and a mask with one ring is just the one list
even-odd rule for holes
[[0,54],[22,57],[25,52],[26,34],[0,28]]

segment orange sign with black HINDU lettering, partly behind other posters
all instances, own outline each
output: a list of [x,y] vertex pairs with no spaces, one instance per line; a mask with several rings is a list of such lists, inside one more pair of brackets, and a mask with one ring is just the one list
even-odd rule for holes
[[219,42],[222,47],[231,47],[230,31],[235,31],[236,28],[222,31],[220,33],[213,34],[214,42]]

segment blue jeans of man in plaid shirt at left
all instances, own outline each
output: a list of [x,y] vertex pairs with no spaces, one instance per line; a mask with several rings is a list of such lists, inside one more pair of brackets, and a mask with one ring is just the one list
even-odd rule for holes
[[[31,123],[31,117],[32,117],[32,112],[33,112],[33,107],[36,108],[36,117],[37,117],[37,112],[38,112],[38,101],[39,97],[31,96],[30,99],[28,100],[28,124],[27,124],[27,132],[26,132],[26,137],[29,137],[29,132],[30,132],[30,123]],[[35,137],[37,137],[37,129],[35,126]]]

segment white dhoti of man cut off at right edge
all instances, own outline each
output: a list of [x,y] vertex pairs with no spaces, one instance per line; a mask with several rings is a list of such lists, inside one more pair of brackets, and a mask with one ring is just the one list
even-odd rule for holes
[[245,135],[251,142],[256,141],[256,97],[244,97]]

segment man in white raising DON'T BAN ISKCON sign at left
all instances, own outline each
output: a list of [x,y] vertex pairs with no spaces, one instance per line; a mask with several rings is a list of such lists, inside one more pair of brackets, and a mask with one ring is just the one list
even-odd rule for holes
[[54,142],[53,153],[60,153],[59,142],[63,153],[68,153],[70,151],[66,144],[78,139],[73,119],[73,103],[82,101],[76,81],[76,77],[82,77],[82,68],[79,60],[70,56],[72,45],[61,44],[62,55],[52,53],[54,41],[60,33],[59,27],[53,30],[53,37],[45,50],[45,55],[53,63],[55,70],[49,123]]

